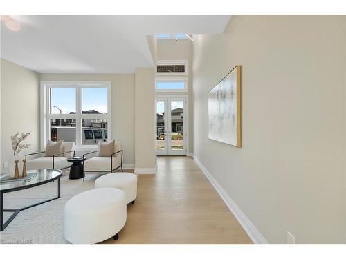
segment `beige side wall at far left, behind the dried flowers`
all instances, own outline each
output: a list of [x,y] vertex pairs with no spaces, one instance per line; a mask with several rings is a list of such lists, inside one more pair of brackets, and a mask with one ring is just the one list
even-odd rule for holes
[[39,74],[1,59],[1,173],[12,155],[10,136],[31,132],[26,152],[39,150]]

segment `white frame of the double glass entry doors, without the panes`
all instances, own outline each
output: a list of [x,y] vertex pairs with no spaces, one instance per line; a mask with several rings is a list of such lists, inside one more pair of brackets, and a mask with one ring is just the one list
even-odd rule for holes
[[[156,149],[156,155],[188,155],[188,137],[189,137],[189,127],[188,127],[188,95],[156,95],[155,99],[155,135],[157,136],[157,115],[156,115],[156,106],[158,101],[165,102],[165,150]],[[174,150],[172,146],[172,122],[171,122],[171,102],[172,101],[183,101],[183,149]],[[167,112],[168,111],[168,112]],[[157,140],[157,137],[156,137]],[[156,148],[156,145],[155,145]]]

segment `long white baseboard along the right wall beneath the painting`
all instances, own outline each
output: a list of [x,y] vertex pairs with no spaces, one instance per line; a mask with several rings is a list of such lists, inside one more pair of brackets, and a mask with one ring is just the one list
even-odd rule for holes
[[206,175],[206,178],[210,181],[212,186],[214,186],[217,193],[219,193],[222,200],[224,200],[228,209],[233,213],[238,222],[242,225],[249,238],[253,241],[254,244],[268,244],[268,241],[262,236],[260,231],[255,227],[255,225],[246,217],[243,211],[238,207],[238,205],[230,198],[230,196],[226,193],[226,191],[221,187],[219,182],[212,176],[206,167],[203,166],[201,161],[194,156],[194,161],[198,164],[201,171]]

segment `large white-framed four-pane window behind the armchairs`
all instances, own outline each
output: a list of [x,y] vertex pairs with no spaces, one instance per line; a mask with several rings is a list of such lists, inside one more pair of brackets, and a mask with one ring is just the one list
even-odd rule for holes
[[110,82],[42,82],[42,148],[46,140],[96,145],[111,137]]

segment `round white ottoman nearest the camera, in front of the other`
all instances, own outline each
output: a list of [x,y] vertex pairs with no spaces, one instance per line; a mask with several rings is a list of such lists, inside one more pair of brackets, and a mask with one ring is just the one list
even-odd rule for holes
[[84,191],[65,205],[65,238],[72,244],[95,244],[118,232],[126,222],[126,195],[116,188]]

